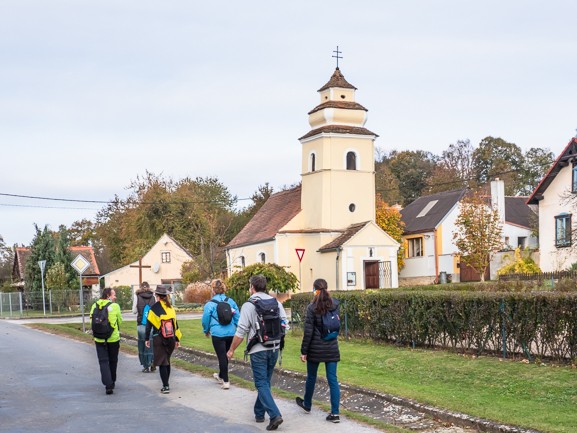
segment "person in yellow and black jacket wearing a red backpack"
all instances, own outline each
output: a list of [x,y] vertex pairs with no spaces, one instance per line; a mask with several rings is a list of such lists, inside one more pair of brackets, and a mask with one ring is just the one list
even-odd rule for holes
[[182,333],[178,328],[176,313],[170,304],[171,287],[167,284],[156,286],[154,294],[157,302],[148,312],[148,322],[146,323],[146,347],[150,347],[150,335],[152,334],[154,363],[158,367],[160,379],[162,380],[163,394],[170,393],[170,356],[174,349],[180,346]]

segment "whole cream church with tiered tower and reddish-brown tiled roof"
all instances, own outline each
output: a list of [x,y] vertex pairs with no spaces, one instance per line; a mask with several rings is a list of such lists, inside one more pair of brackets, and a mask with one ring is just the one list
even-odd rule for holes
[[309,113],[301,183],[273,194],[226,246],[228,272],[263,262],[331,290],[398,287],[399,244],[375,223],[375,139],[337,66]]

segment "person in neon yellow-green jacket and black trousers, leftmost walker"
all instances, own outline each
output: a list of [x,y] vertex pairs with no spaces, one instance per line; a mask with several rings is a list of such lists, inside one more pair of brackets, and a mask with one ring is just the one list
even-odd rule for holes
[[96,355],[100,364],[100,376],[102,384],[106,387],[106,394],[112,394],[116,383],[116,367],[118,366],[118,352],[120,351],[120,324],[122,323],[122,313],[116,301],[116,291],[106,288],[102,291],[102,296],[92,305],[90,319],[94,309],[108,309],[108,320],[112,326],[112,335],[107,338],[94,337],[96,344]]

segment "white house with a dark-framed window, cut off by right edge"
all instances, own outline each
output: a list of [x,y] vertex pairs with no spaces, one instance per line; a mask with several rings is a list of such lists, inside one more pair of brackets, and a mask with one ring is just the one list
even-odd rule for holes
[[539,207],[540,267],[561,271],[577,263],[573,212],[577,210],[577,138],[572,138],[527,201]]

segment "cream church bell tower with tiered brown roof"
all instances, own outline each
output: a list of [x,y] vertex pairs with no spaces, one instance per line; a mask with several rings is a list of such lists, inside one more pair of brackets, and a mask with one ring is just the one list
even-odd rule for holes
[[301,208],[307,229],[344,229],[375,219],[374,141],[356,87],[336,68],[302,136]]

